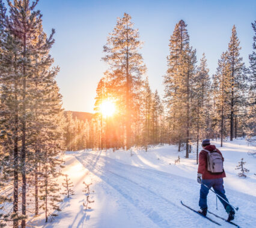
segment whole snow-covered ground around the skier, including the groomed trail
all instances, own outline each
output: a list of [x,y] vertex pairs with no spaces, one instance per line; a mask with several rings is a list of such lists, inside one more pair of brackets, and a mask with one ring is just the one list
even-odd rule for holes
[[[219,142],[213,142],[219,147]],[[227,178],[224,186],[231,203],[239,207],[234,220],[241,227],[256,227],[256,158],[248,151],[244,139],[225,142],[221,148]],[[196,154],[184,158],[177,147],[165,145],[151,148],[148,152],[127,151],[77,151],[67,152],[64,174],[69,174],[75,187],[75,195],[64,199],[62,211],[54,221],[44,223],[44,217],[29,223],[32,227],[218,227],[180,204],[183,200],[198,209],[200,185],[197,183]],[[180,164],[174,160],[180,156]],[[236,176],[237,163],[243,157],[250,170],[247,178]],[[83,181],[93,183],[91,209],[84,210]],[[227,217],[227,213],[216,197],[209,193],[209,210]],[[209,217],[223,227],[234,227],[213,215]]]

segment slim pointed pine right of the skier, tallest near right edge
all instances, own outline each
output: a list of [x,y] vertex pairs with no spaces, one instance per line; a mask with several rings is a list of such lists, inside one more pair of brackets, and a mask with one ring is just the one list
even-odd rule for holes
[[239,109],[245,104],[247,89],[245,65],[240,57],[240,42],[237,38],[236,26],[233,26],[230,43],[228,44],[227,59],[230,66],[228,78],[230,80],[230,141],[234,138],[234,117],[239,115]]

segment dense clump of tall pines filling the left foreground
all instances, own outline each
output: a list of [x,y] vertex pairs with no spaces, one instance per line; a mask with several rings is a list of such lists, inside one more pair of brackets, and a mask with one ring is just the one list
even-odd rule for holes
[[28,215],[58,210],[64,150],[61,95],[38,1],[0,0],[0,227],[26,227]]

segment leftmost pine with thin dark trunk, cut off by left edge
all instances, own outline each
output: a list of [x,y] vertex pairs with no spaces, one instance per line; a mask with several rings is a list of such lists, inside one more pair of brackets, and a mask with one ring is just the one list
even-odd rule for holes
[[[7,17],[5,16],[5,8],[2,8],[1,2],[1,117],[4,121],[4,130],[9,137],[4,142],[5,150],[9,151],[8,162],[9,169],[13,166],[13,214],[18,216],[18,189],[19,189],[19,156],[18,143],[20,129],[19,122],[19,95],[20,85],[18,71],[18,59],[20,57],[20,42],[12,37],[7,31]],[[11,172],[11,170],[10,170]],[[17,228],[18,221],[14,220],[14,227]]]

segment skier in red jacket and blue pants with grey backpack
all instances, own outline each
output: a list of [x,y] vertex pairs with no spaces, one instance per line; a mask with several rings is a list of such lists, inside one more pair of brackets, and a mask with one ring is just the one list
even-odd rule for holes
[[[200,214],[206,216],[207,214],[207,194],[209,189],[213,187],[215,193],[219,194],[223,199],[228,202],[225,196],[225,190],[223,186],[223,178],[226,177],[225,171],[223,169],[224,157],[221,151],[216,149],[215,145],[210,145],[209,139],[204,139],[202,142],[203,150],[199,154],[199,165],[197,181],[201,184],[200,189]],[[209,189],[204,186],[204,184],[209,187]],[[234,209],[228,205],[223,199],[219,197],[219,200],[223,204],[225,210],[228,213],[228,221],[234,220]]]

